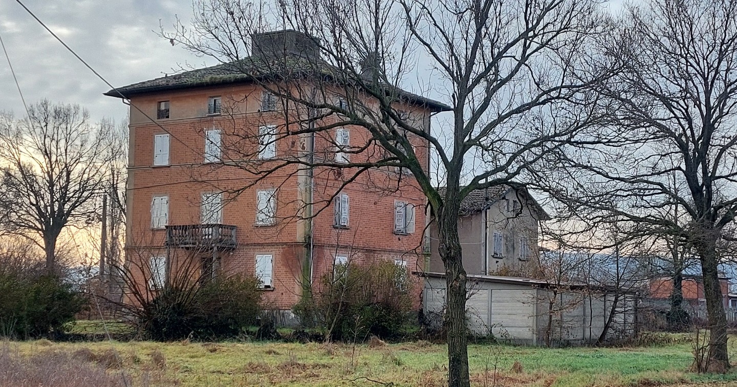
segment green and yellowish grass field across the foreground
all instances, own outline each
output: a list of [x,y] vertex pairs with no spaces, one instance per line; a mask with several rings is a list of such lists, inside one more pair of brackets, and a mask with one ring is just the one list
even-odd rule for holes
[[[735,357],[737,346],[733,341],[730,341],[730,352]],[[0,344],[0,348],[0,384],[3,386],[38,386],[46,383],[44,380],[52,380],[49,383],[67,380],[63,373],[69,369],[77,369],[74,374],[86,375],[85,378],[93,381],[95,377],[109,378],[97,380],[94,382],[97,385],[380,386],[377,383],[384,383],[385,386],[444,386],[447,371],[444,346],[426,341],[371,347],[317,343],[52,343],[41,340],[7,341]],[[3,357],[6,363],[8,359],[15,359],[15,368],[3,366]],[[737,373],[689,373],[691,344],[685,337],[668,345],[629,348],[471,345],[469,362],[475,386],[692,386],[702,383],[737,386]],[[515,362],[521,365],[521,370],[512,370]],[[38,370],[34,371],[33,366]],[[65,367],[69,369],[65,371]],[[28,384],[13,383],[23,378],[24,372],[43,372],[46,379],[32,380]],[[55,376],[55,372],[59,374]],[[88,385],[95,384],[73,386]]]

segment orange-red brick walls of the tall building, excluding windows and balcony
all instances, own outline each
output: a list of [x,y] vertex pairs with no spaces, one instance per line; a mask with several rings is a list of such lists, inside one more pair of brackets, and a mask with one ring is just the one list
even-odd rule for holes
[[[200,198],[207,192],[224,192],[222,223],[237,228],[237,247],[217,251],[220,272],[254,275],[256,255],[272,254],[273,287],[264,292],[268,305],[275,309],[289,310],[298,301],[304,282],[315,282],[324,273],[330,273],[336,253],[348,254],[356,264],[402,259],[407,262],[408,271],[422,270],[418,258],[422,257],[425,196],[411,176],[404,175],[399,181],[399,173],[395,170],[373,169],[347,184],[341,192],[349,195],[349,224],[339,229],[333,226],[330,200],[354,171],[315,168],[312,170],[312,195],[317,215],[310,230],[310,222],[301,219],[305,211],[304,195],[310,186],[307,170],[290,165],[259,180],[258,172],[245,167],[250,164],[242,159],[258,147],[253,139],[260,125],[276,125],[280,136],[287,130],[295,130],[294,125],[286,124],[284,117],[288,115],[283,109],[259,112],[261,91],[252,84],[237,83],[158,91],[131,98],[131,103],[145,113],[136,108],[130,110],[127,257],[129,263],[133,263],[129,265],[131,273],[139,283],[143,286],[145,275],[136,271],[137,268],[147,270],[147,257],[169,257],[170,277],[187,265],[191,267],[193,260],[212,257],[214,251],[209,249],[165,247],[167,231],[152,229],[151,221],[153,197],[167,195],[167,225],[200,223]],[[222,98],[223,114],[207,114],[208,100],[213,96]],[[170,102],[170,118],[156,119],[160,101]],[[429,128],[430,111],[416,106],[410,108],[419,125]],[[212,128],[223,133],[223,161],[228,162],[203,162],[204,132]],[[366,144],[366,131],[361,128],[349,130],[353,146]],[[154,166],[154,136],[164,133],[170,135],[169,163]],[[335,147],[326,136],[322,133],[315,136],[314,153],[333,157]],[[307,149],[308,141],[312,140],[304,135],[279,137],[276,153],[299,154]],[[427,143],[419,137],[413,137],[411,142],[416,146],[422,165],[427,166]],[[351,157],[370,159],[371,151],[368,148]],[[262,167],[268,167],[266,163]],[[244,189],[246,186],[248,188]],[[276,223],[272,226],[255,224],[256,191],[259,189],[276,189]],[[416,229],[412,234],[394,233],[395,201],[418,206],[414,220]],[[419,286],[416,288],[419,302]]]

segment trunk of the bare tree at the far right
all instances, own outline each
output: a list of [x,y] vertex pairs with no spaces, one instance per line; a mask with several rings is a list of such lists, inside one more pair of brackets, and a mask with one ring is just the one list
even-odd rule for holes
[[704,297],[709,315],[709,357],[705,372],[726,372],[730,369],[727,352],[727,316],[724,314],[722,286],[719,283],[718,259],[714,238],[696,243],[704,277]]

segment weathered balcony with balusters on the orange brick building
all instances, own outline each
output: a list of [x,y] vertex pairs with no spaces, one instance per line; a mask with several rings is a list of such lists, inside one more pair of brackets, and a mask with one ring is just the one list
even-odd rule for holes
[[188,224],[167,226],[167,246],[178,248],[236,248],[236,226]]

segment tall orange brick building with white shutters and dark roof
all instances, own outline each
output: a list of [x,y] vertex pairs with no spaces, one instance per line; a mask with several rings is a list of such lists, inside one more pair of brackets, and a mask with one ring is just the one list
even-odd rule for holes
[[[310,46],[293,31],[253,39],[254,63],[268,61],[269,52],[304,58]],[[264,86],[244,77],[242,66],[222,64],[106,93],[133,105],[126,248],[139,285],[156,292],[187,271],[245,273],[261,279],[270,307],[290,310],[335,264],[388,260],[421,271],[425,196],[411,174],[371,168],[352,180],[357,168],[306,167],[370,161],[377,150],[356,126],[300,131],[304,109]],[[392,90],[416,128],[430,130],[430,114],[447,110]],[[330,98],[348,103],[340,88]],[[339,121],[324,116],[319,125]],[[429,168],[427,142],[407,139]]]

